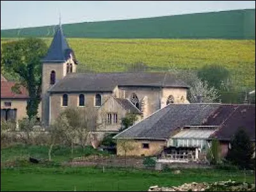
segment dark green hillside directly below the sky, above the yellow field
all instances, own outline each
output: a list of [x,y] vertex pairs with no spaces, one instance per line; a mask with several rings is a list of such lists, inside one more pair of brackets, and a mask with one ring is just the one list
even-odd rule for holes
[[[77,38],[255,39],[255,9],[63,24]],[[54,26],[1,30],[1,38],[51,37]]]

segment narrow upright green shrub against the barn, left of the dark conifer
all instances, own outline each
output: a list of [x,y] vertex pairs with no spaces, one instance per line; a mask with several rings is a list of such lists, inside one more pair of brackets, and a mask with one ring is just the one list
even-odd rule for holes
[[220,163],[220,142],[214,138],[211,143],[211,148],[208,149],[207,159],[211,164]]

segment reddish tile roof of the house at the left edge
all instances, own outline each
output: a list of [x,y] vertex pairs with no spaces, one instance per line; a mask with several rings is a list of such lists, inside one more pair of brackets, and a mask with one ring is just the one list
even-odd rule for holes
[[24,86],[20,87],[20,94],[12,92],[15,82],[1,81],[1,99],[28,99],[28,91]]

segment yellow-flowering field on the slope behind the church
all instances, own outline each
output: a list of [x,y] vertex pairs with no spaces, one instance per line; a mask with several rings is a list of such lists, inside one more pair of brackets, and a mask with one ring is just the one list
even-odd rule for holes
[[[1,38],[1,44],[10,39]],[[52,38],[44,38],[47,45]],[[67,38],[79,60],[79,72],[123,72],[132,63],[148,70],[228,68],[237,88],[255,87],[255,40],[163,40]]]

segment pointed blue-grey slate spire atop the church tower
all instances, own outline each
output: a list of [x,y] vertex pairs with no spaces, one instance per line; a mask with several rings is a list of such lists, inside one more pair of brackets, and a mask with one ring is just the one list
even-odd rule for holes
[[63,35],[63,31],[61,29],[61,17],[60,24],[56,26],[56,32],[52,39],[52,43],[47,51],[45,58],[42,60],[43,62],[65,62],[68,59],[67,51],[70,52],[68,42]]

